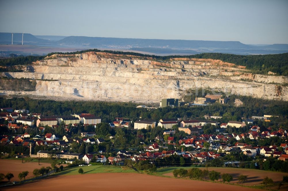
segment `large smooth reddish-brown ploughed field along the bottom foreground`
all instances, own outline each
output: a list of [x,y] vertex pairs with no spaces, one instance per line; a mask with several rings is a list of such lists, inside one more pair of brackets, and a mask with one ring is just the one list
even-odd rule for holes
[[54,176],[4,190],[258,190],[228,184],[167,178],[138,173],[99,173]]

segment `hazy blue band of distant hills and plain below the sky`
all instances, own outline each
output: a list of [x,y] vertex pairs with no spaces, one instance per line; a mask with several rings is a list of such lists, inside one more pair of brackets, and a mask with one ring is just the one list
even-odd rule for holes
[[[0,44],[11,44],[11,33],[0,33]],[[22,33],[14,33],[13,44],[21,44]],[[103,48],[149,52],[151,54],[280,54],[288,52],[288,44],[249,45],[239,41],[163,40],[142,38],[105,38],[87,36],[33,36],[24,34],[25,45],[61,48]]]

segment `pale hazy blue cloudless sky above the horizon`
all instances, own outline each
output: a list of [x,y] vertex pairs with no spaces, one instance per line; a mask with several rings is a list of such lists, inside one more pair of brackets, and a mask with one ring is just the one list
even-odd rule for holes
[[288,44],[288,0],[0,0],[0,32]]

